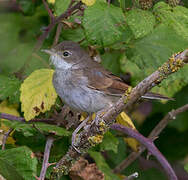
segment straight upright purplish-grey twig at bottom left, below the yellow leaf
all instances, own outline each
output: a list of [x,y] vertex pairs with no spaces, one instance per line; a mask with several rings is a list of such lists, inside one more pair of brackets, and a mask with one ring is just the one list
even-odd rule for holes
[[42,169],[41,169],[40,177],[39,177],[40,180],[44,180],[45,175],[46,175],[46,170],[49,167],[48,159],[50,156],[50,150],[51,150],[53,142],[54,142],[53,137],[51,137],[51,136],[47,137],[45,151],[44,151],[44,157],[43,157],[43,163],[42,163]]

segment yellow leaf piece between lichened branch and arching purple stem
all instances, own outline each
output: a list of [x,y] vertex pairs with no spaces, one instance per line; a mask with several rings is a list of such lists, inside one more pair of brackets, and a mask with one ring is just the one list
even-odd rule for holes
[[132,129],[136,129],[132,120],[130,119],[130,117],[125,112],[122,112],[121,114],[119,114],[117,116],[116,122],[123,125],[123,126],[130,127]]

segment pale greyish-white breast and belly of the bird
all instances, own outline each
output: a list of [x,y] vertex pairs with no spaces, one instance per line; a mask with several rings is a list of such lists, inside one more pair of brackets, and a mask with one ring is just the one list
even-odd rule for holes
[[105,94],[87,86],[87,78],[76,77],[72,72],[58,72],[53,85],[63,102],[78,111],[97,112],[111,104]]

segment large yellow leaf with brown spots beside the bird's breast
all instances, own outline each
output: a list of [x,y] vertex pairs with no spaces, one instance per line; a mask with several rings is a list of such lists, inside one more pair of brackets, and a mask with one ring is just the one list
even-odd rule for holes
[[50,110],[55,104],[57,93],[52,84],[53,73],[52,69],[36,70],[21,85],[20,101],[27,121]]

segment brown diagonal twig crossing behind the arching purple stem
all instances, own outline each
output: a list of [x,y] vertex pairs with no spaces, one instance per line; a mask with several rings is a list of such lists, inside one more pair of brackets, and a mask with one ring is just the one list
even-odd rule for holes
[[[154,139],[157,137],[161,131],[168,125],[168,123],[176,118],[176,116],[182,112],[188,111],[188,104],[169,112],[151,131],[148,138]],[[132,162],[134,162],[144,151],[146,148],[141,146],[139,148],[139,152],[132,152],[125,160],[123,160],[113,171],[114,173],[120,173],[123,169],[128,167]]]

